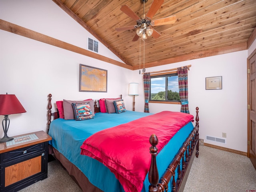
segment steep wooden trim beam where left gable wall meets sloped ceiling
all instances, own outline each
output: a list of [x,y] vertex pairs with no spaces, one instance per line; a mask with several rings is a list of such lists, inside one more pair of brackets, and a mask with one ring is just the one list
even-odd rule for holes
[[120,58],[124,63],[129,64],[116,50],[114,50],[109,44],[104,41],[98,34],[96,34],[81,18],[79,18],[74,12],[72,12],[61,0],[52,0],[55,2],[62,10],[64,10],[69,16],[71,16],[76,22],[78,22],[83,28],[85,28],[90,34],[92,34],[95,38],[97,38],[104,46],[106,46],[111,52],[113,52],[118,58]]

